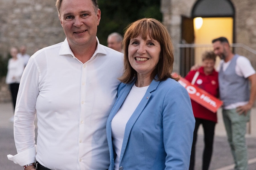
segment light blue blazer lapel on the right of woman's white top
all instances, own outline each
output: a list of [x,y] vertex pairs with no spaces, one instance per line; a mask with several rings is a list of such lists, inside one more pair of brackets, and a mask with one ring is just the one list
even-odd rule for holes
[[[128,120],[128,122],[126,124],[126,127],[125,127],[125,134],[124,134],[124,139],[123,139],[123,142],[122,142],[122,149],[121,149],[121,153],[120,153],[119,163],[121,163],[122,158],[124,156],[125,149],[126,149],[127,143],[128,143],[128,139],[129,139],[129,136],[130,136],[130,133],[131,133],[131,129],[134,126],[134,123],[136,122],[136,120],[139,118],[139,116],[142,113],[143,109],[147,105],[147,103],[148,103],[148,101],[149,101],[149,99],[151,97],[151,92],[156,90],[156,88],[159,85],[159,83],[160,83],[159,81],[156,82],[155,80],[153,80],[151,82],[151,84],[149,85],[145,95],[143,96],[142,100],[140,101],[138,107],[135,109],[134,113],[131,115],[131,118]],[[131,90],[131,88],[130,88],[130,90]]]

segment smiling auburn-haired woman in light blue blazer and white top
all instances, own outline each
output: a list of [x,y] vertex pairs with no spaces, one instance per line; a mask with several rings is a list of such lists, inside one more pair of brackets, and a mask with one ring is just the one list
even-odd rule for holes
[[125,70],[106,128],[109,170],[188,170],[195,118],[171,75],[168,31],[144,18],[129,26],[123,45]]

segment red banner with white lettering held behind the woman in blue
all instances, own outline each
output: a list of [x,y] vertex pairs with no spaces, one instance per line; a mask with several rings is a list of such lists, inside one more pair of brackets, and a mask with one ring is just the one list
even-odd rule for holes
[[[172,74],[174,77],[178,77],[178,74]],[[200,105],[204,106],[205,108],[209,109],[212,112],[217,112],[218,108],[221,107],[222,101],[217,99],[215,96],[207,93],[201,88],[198,88],[195,85],[192,85],[188,80],[180,77],[179,83],[186,88],[189,93],[190,99],[198,102]]]

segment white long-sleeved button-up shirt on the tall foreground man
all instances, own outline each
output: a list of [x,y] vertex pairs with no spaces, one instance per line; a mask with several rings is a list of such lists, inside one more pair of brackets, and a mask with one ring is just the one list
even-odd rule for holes
[[[80,62],[67,39],[37,51],[20,82],[14,118],[21,166],[39,161],[52,170],[106,170],[106,122],[116,100],[123,54],[99,44]],[[37,153],[34,120],[38,117]]]

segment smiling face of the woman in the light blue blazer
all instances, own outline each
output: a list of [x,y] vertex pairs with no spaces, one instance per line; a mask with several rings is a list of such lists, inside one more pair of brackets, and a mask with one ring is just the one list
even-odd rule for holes
[[138,77],[151,76],[159,61],[160,51],[160,43],[149,36],[146,40],[140,36],[131,39],[128,45],[128,59]]

